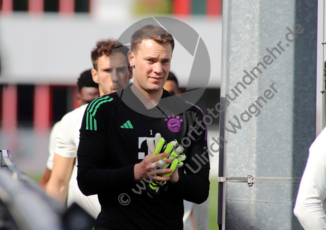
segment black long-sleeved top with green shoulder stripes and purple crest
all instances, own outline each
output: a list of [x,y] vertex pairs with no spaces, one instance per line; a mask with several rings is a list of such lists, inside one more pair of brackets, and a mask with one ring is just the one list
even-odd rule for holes
[[[206,162],[209,156],[205,151],[207,130],[202,122],[203,113],[184,99],[170,96],[163,90],[161,98],[168,97],[165,103],[160,102],[147,110],[129,86],[122,91],[123,100],[117,93],[112,93],[94,99],[88,105],[80,130],[77,180],[83,194],[99,195],[101,213],[95,229],[183,229],[183,200],[200,204],[207,199],[210,163]],[[137,113],[125,102],[146,115]],[[183,107],[188,108],[183,113],[165,114]],[[158,113],[161,118],[157,118]],[[196,117],[201,126],[197,125]],[[169,122],[172,118],[173,122]],[[191,126],[197,126],[196,132],[190,130]],[[185,146],[187,159],[179,169],[179,181],[176,184],[167,182],[167,190],[161,191],[153,202],[145,191],[137,194],[143,184],[134,182],[134,164],[141,162],[139,155],[147,155],[147,144],[142,137],[154,139],[156,133],[161,133],[167,142],[175,139],[180,144],[183,137],[188,137],[191,144]],[[183,143],[189,144],[186,140]],[[195,154],[201,156],[201,160],[194,157]],[[122,193],[129,196],[128,205],[119,202]],[[127,202],[127,195],[120,199]]]

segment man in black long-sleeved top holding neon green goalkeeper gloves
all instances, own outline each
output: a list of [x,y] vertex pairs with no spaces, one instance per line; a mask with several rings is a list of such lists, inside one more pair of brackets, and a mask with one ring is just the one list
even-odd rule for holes
[[[96,230],[183,229],[183,199],[200,204],[210,189],[203,113],[163,90],[174,48],[170,33],[147,25],[134,32],[131,44],[134,83],[95,99],[85,111],[78,150],[79,188],[85,195],[99,196]],[[162,175],[172,169],[159,169],[156,175],[152,170],[167,156],[147,154],[146,140],[156,133],[184,147],[187,159],[170,176]],[[166,182],[155,200],[144,186],[150,179]]]

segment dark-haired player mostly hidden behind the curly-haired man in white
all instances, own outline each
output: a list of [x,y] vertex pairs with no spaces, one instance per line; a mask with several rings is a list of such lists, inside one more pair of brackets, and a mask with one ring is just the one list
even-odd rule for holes
[[[92,101],[92,99],[99,97],[99,84],[93,81],[91,69],[85,70],[79,76],[79,79],[77,80],[77,92],[78,93],[76,96],[79,106],[88,104],[90,101]],[[39,184],[43,187],[43,189],[46,188],[52,173],[55,141],[58,135],[59,125],[60,121],[54,124],[50,133],[48,161],[46,162],[45,173],[39,180]]]

